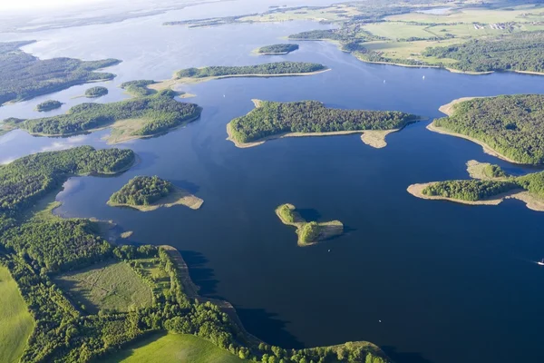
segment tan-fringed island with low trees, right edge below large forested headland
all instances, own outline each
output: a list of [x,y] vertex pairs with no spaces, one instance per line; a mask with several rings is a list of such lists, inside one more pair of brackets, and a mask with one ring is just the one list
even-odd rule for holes
[[530,210],[544,211],[544,172],[514,177],[499,165],[476,161],[467,162],[467,171],[474,179],[413,184],[407,191],[422,199],[471,205],[498,205],[505,199],[517,199]]

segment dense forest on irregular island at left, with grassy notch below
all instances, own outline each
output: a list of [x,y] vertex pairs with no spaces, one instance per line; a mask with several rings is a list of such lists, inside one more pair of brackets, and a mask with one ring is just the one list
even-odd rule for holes
[[133,134],[153,135],[199,117],[202,109],[197,104],[177,102],[175,95],[173,91],[161,91],[117,103],[81,103],[65,114],[24,122],[6,120],[5,123],[36,134],[70,135],[106,127],[119,120],[144,119],[146,123]]

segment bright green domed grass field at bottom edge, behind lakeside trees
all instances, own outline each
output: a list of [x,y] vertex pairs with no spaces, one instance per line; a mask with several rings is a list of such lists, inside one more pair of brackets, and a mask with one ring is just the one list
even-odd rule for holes
[[193,335],[153,335],[142,339],[109,358],[104,363],[242,363],[228,351]]

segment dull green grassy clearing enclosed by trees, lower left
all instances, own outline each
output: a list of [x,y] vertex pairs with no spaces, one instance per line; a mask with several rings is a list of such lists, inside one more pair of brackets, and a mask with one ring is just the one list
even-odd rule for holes
[[151,306],[151,288],[125,262],[102,262],[62,275],[56,283],[74,303],[96,313],[99,309],[127,311],[131,306]]

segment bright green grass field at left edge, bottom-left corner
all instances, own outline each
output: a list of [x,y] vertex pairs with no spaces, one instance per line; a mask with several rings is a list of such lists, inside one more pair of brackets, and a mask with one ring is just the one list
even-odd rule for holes
[[0,266],[0,362],[18,362],[34,321],[9,270]]

